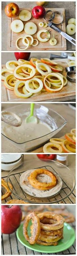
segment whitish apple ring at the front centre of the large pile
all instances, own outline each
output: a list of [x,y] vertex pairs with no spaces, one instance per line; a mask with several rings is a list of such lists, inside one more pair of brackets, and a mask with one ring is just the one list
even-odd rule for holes
[[[37,88],[37,89],[31,89],[30,86],[29,86],[29,83],[30,83],[31,81],[37,81],[38,84],[39,84],[39,88]],[[30,79],[29,81],[26,81],[26,82],[25,82],[25,88],[26,88],[26,90],[29,91],[29,92],[37,93],[37,92],[41,91],[41,89],[43,88],[43,83],[42,83],[42,81],[41,81],[40,79],[38,79],[38,78],[32,78],[32,79]]]

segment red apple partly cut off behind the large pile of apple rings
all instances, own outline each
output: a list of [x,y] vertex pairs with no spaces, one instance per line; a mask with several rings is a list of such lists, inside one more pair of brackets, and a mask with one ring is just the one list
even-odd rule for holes
[[23,60],[28,60],[30,56],[30,52],[14,52],[14,55],[16,59],[23,59]]

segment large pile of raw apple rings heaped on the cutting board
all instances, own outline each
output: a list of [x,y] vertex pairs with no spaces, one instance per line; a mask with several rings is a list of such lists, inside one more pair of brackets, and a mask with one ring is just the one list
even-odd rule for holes
[[[25,38],[23,41],[25,43]],[[62,71],[61,66],[48,58],[40,60],[31,58],[30,61],[22,59],[8,61],[1,75],[7,89],[13,90],[17,97],[26,99],[46,91],[50,93],[60,91],[67,85],[67,78]],[[8,73],[6,77],[5,73]]]

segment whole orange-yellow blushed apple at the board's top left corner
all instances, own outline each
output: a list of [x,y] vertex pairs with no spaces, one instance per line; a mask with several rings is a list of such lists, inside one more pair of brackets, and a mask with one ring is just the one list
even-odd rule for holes
[[15,3],[9,3],[5,7],[5,13],[8,17],[14,18],[19,14],[19,6]]

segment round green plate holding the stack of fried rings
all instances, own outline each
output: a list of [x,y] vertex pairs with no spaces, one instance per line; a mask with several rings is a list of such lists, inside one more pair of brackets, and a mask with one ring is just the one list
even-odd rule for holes
[[[31,222],[29,222],[29,225],[28,225],[29,236],[31,235],[30,226],[31,226]],[[19,226],[16,234],[21,244],[23,244],[24,246],[28,247],[31,250],[44,252],[44,253],[56,253],[56,252],[67,250],[70,246],[73,245],[75,241],[75,231],[68,223],[64,223],[64,234],[63,234],[64,238],[58,242],[57,246],[42,246],[38,244],[30,245],[23,236],[23,224]]]

